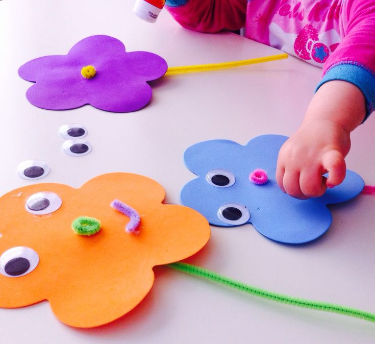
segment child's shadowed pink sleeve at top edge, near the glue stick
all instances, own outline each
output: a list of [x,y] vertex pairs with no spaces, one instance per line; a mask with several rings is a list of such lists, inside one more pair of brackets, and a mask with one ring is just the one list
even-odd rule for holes
[[184,28],[200,32],[244,27],[246,0],[167,0],[167,10]]

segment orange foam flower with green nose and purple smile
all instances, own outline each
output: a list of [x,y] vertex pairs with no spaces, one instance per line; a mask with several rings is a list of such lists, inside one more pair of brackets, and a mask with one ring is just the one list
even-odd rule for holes
[[[48,215],[25,209],[28,197],[52,191],[62,206]],[[15,308],[48,300],[55,315],[74,327],[109,323],[133,309],[154,282],[153,266],[187,258],[210,237],[207,220],[180,205],[162,204],[161,185],[143,176],[112,173],[81,188],[44,183],[0,198],[0,254],[25,246],[39,264],[21,277],[0,275],[0,306]],[[125,231],[129,217],[110,207],[119,199],[141,217],[139,234]],[[80,236],[71,229],[79,216],[99,219],[102,229]]]

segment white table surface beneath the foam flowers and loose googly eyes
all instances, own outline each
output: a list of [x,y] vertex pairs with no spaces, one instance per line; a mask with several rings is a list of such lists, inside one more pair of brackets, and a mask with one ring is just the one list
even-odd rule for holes
[[[0,194],[28,185],[17,165],[46,161],[40,182],[79,187],[92,177],[126,171],[151,177],[179,203],[194,178],[183,153],[193,143],[231,139],[241,144],[261,134],[290,135],[298,127],[321,70],[295,58],[237,69],[164,77],[153,82],[144,109],[108,113],[91,106],[48,111],[28,103],[31,83],[17,69],[33,58],[66,54],[82,38],[107,34],[127,51],[159,54],[169,66],[241,60],[277,50],[231,33],[182,29],[167,11],[156,24],[141,21],[126,0],[0,1]],[[80,158],[61,152],[58,128],[78,122],[93,146]],[[375,118],[352,135],[346,162],[366,184],[375,184]],[[128,150],[123,144],[131,144]],[[35,182],[34,182],[35,183]],[[331,207],[326,235],[301,246],[282,245],[251,225],[212,227],[207,246],[190,262],[224,276],[296,297],[375,312],[375,198],[360,195]],[[156,267],[146,298],[119,320],[94,329],[60,323],[48,302],[0,309],[2,343],[373,343],[375,325],[247,296],[236,290]],[[1,287],[1,286],[0,286]]]

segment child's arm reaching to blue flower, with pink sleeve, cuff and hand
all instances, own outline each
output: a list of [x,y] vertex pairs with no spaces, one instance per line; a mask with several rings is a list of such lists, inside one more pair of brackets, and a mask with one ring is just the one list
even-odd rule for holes
[[[277,182],[297,198],[320,196],[343,181],[349,134],[374,110],[375,2],[347,4],[345,37],[324,64],[301,127],[279,153]],[[326,171],[328,180],[322,177]]]

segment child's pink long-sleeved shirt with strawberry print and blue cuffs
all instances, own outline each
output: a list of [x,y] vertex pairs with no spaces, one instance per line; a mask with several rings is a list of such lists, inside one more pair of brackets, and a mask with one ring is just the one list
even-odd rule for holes
[[322,66],[331,80],[359,87],[375,110],[375,0],[167,0],[185,28],[245,36]]

